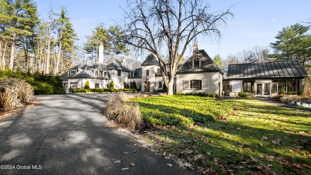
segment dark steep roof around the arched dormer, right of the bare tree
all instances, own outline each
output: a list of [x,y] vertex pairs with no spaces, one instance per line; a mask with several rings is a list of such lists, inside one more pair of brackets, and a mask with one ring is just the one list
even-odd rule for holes
[[[201,67],[192,68],[192,59],[201,58]],[[219,71],[224,74],[204,50],[198,50],[177,70],[177,73]]]

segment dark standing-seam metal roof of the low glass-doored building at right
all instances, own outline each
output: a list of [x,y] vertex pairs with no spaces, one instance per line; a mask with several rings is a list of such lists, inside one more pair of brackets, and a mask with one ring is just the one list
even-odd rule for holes
[[263,63],[232,64],[228,66],[227,79],[243,78],[294,78],[309,77],[298,60]]

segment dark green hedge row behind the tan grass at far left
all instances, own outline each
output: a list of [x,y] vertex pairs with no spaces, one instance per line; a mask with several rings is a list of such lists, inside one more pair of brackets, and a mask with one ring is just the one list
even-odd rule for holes
[[59,76],[44,75],[39,72],[30,73],[22,71],[15,72],[9,69],[0,70],[0,78],[10,77],[25,79],[27,83],[33,86],[35,95],[65,93],[65,88]]

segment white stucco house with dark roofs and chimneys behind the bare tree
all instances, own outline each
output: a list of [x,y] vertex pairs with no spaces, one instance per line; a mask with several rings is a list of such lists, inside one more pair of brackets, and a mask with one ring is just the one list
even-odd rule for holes
[[[136,87],[142,92],[155,92],[162,89],[164,81],[161,76],[159,62],[150,53],[143,62],[133,60],[131,55],[111,55],[103,61],[103,45],[99,46],[100,54],[97,62],[86,61],[76,65],[61,75],[61,79],[69,92],[70,88],[84,88],[89,81],[90,88]],[[215,65],[204,50],[198,50],[197,43],[193,46],[193,55],[177,67],[173,89],[179,93],[215,93],[221,89],[223,72]]]

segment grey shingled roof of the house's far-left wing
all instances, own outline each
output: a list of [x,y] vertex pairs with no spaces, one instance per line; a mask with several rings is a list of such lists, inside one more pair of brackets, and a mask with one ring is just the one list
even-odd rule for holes
[[[106,64],[104,63],[98,63],[94,61],[86,61],[85,63],[78,64],[72,68],[70,68],[71,74],[68,76],[68,71],[63,73],[60,78],[62,80],[67,80],[68,78],[94,78],[94,79],[103,79],[103,77],[100,76],[95,76],[94,75],[94,70],[99,70],[99,71],[104,71],[106,69]],[[76,69],[79,70],[78,73],[76,73]],[[100,73],[100,72],[99,72]],[[104,79],[109,79],[110,75],[109,72],[107,72],[108,78]]]

